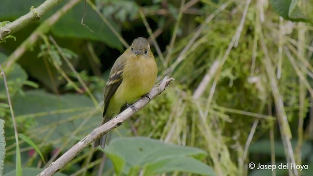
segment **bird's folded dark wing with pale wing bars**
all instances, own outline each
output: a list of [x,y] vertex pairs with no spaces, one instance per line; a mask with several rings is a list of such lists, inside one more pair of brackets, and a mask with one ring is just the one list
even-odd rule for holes
[[125,60],[125,57],[123,55],[121,55],[119,58],[117,58],[114,65],[112,66],[112,69],[110,72],[110,78],[106,84],[106,88],[104,89],[104,95],[103,95],[104,110],[103,110],[102,117],[104,117],[104,115],[106,114],[110,99],[112,98],[116,89],[122,83],[124,60]]

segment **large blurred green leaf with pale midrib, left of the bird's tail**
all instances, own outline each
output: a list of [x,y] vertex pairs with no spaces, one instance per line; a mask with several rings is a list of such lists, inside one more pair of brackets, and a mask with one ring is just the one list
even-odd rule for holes
[[[75,131],[78,126],[90,115],[84,113],[94,110],[93,103],[89,97],[81,94],[55,95],[44,90],[28,90],[24,96],[16,96],[13,100],[17,120],[26,117],[34,117],[37,124],[32,124],[32,130],[45,129],[36,134],[38,139],[44,138],[51,132],[49,141],[60,140]],[[98,117],[99,114],[95,114]],[[93,128],[89,120],[80,130],[80,133],[90,132]],[[74,142],[74,140],[72,141]]]

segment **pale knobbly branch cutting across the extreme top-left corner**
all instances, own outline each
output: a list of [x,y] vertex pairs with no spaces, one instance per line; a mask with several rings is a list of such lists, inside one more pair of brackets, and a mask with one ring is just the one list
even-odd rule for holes
[[5,37],[8,35],[12,35],[22,28],[25,28],[29,24],[39,21],[46,12],[51,10],[62,1],[63,0],[45,0],[45,2],[37,8],[31,6],[29,12],[26,15],[18,18],[14,22],[7,23],[5,26],[0,28],[0,41],[5,39]]

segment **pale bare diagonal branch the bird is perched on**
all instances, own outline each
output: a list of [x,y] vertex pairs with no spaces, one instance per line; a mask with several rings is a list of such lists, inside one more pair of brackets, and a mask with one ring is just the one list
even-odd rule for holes
[[[173,81],[173,78],[165,76],[163,80],[156,84],[152,90],[149,92],[150,100],[155,98],[157,95],[161,94],[165,88]],[[136,107],[136,111],[141,110],[144,106],[149,103],[149,99],[143,96],[137,102],[133,104]],[[79,154],[84,148],[89,146],[94,140],[99,138],[106,132],[110,132],[114,128],[122,125],[122,123],[134,115],[135,111],[131,108],[127,108],[115,118],[111,119],[109,122],[105,123],[101,127],[94,129],[86,137],[77,142],[72,148],[70,148],[65,154],[59,157],[55,162],[52,162],[42,173],[38,176],[52,176],[60,169],[62,169],[70,160],[72,160],[77,154]]]

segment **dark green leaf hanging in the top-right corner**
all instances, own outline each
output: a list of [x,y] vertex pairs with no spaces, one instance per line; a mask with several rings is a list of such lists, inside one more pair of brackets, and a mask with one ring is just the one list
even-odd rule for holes
[[273,9],[284,19],[291,22],[310,22],[297,5],[297,0],[269,0]]

